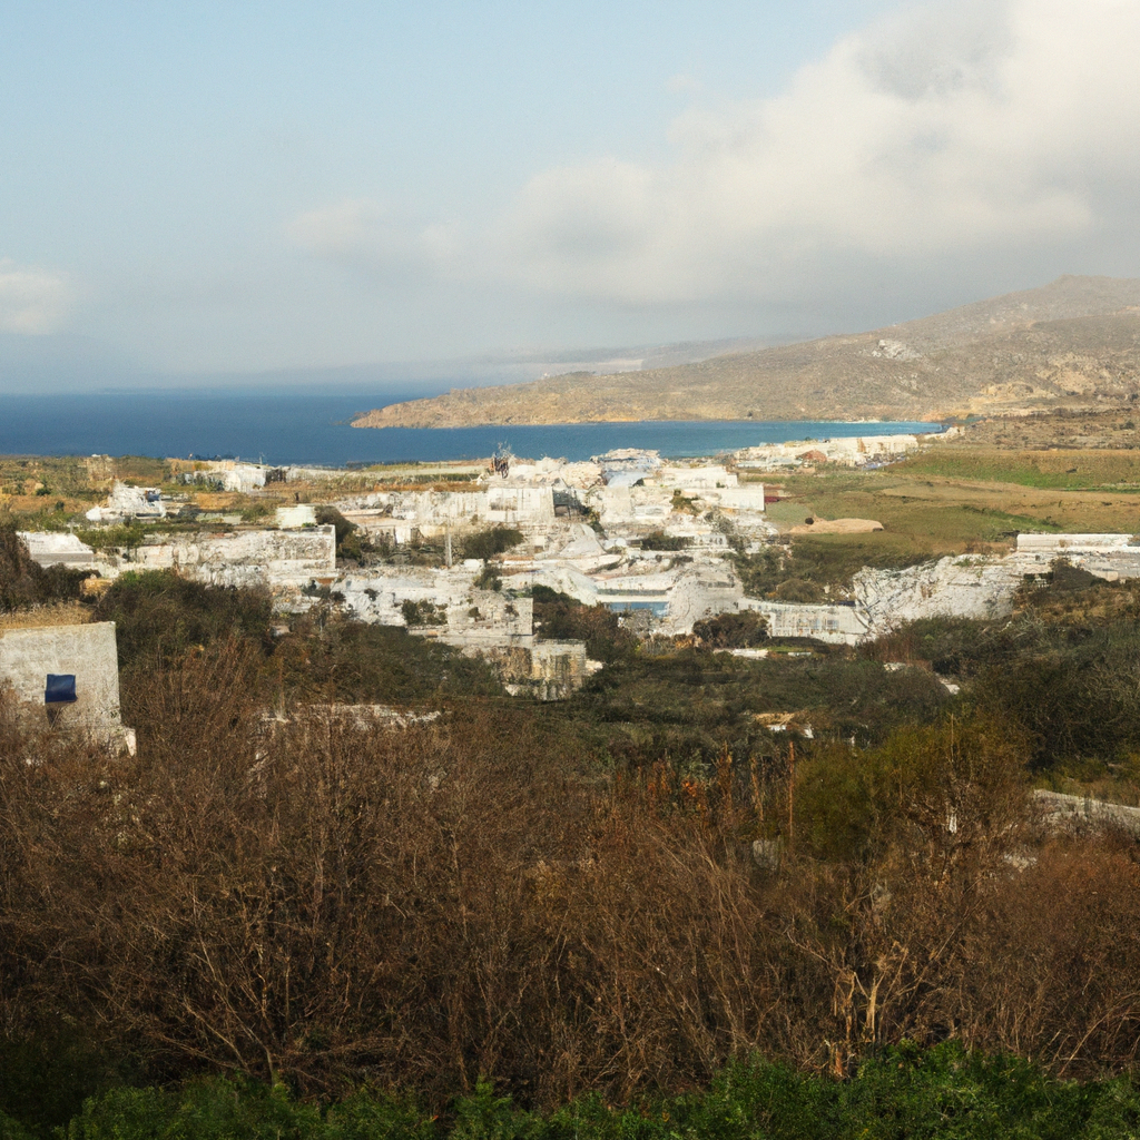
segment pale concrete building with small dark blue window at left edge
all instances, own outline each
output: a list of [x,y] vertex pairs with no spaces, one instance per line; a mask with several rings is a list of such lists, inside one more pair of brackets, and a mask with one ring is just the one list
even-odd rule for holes
[[135,751],[120,716],[113,621],[0,628],[0,685],[33,723]]

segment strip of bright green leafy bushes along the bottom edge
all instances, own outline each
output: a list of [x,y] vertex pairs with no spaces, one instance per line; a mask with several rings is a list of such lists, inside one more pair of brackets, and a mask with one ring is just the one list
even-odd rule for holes
[[[1021,1058],[948,1042],[883,1049],[842,1081],[744,1058],[702,1091],[630,1107],[585,1096],[547,1116],[480,1081],[446,1124],[383,1093],[323,1114],[284,1090],[223,1080],[121,1089],[89,1100],[60,1140],[1125,1140],[1138,1125],[1127,1081],[1058,1081]],[[11,1122],[0,1121],[0,1135],[24,1140]]]

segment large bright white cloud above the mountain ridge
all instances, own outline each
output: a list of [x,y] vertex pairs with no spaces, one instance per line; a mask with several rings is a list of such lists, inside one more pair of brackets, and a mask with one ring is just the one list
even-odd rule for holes
[[772,296],[869,259],[992,256],[1104,227],[1134,242],[1138,55],[1135,2],[909,8],[776,98],[690,109],[668,165],[536,174],[499,238],[530,284],[630,304]]

